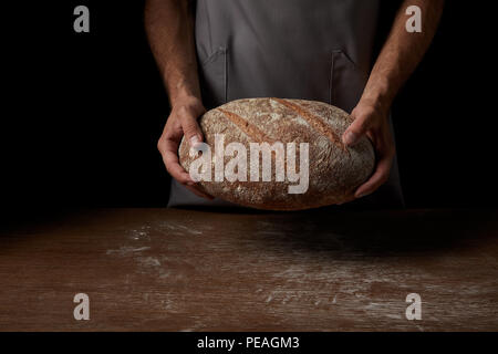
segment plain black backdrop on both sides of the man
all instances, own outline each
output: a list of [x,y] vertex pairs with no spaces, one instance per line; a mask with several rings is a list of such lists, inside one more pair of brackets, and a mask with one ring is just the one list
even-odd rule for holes
[[[156,142],[169,107],[144,1],[31,2],[2,6],[2,208],[164,207],[169,183]],[[398,2],[383,1],[382,33]],[[73,31],[77,4],[90,8],[91,33]],[[496,206],[491,29],[490,9],[448,0],[396,100],[408,207]]]

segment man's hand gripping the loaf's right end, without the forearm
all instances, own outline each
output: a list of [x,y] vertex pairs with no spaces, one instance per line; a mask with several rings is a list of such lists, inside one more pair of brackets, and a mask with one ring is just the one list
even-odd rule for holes
[[377,162],[373,175],[354,192],[356,198],[361,198],[374,192],[388,179],[395,146],[387,121],[388,108],[384,108],[375,101],[361,100],[351,116],[354,122],[344,132],[343,143],[353,146],[366,135],[372,140]]

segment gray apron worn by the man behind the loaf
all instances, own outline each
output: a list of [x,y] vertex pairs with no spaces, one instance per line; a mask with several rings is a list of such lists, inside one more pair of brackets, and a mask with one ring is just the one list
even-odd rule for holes
[[[245,97],[321,101],[351,113],[369,79],[380,0],[197,0],[195,35],[207,110]],[[401,207],[390,180],[357,205]],[[230,205],[173,180],[168,206]]]

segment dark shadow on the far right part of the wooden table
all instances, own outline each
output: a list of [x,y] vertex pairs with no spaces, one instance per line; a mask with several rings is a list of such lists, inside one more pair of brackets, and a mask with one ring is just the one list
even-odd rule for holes
[[432,209],[268,215],[255,232],[269,248],[334,258],[434,254],[498,237],[497,211]]

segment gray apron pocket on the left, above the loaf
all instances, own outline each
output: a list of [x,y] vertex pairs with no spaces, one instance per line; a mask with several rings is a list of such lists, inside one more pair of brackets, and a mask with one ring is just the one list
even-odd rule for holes
[[227,49],[219,48],[199,67],[203,103],[211,110],[227,102]]

